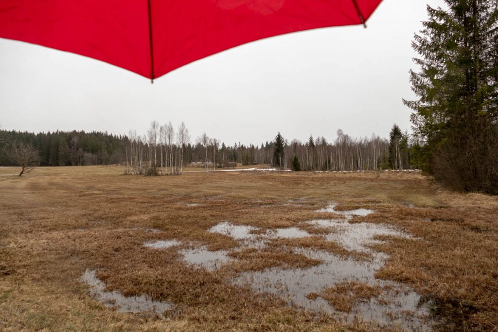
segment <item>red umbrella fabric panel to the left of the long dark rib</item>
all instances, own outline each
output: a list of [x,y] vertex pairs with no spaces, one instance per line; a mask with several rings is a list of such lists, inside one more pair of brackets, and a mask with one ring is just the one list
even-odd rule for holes
[[85,55],[150,77],[146,0],[0,0],[0,37]]

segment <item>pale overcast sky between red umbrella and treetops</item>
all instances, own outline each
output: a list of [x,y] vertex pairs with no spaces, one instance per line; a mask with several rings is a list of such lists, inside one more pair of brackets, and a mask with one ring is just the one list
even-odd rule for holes
[[80,55],[0,38],[0,123],[28,131],[145,133],[151,120],[183,120],[228,144],[280,131],[335,139],[410,129],[413,33],[426,5],[384,0],[361,26],[303,31],[245,44],[154,81]]

